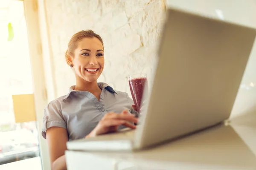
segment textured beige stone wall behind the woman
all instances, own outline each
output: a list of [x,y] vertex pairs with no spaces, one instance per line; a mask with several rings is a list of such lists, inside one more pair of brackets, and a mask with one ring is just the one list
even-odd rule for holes
[[71,36],[92,29],[105,43],[105,70],[99,81],[129,93],[125,76],[151,74],[157,57],[163,0],[45,0],[55,97],[75,82],[65,61]]

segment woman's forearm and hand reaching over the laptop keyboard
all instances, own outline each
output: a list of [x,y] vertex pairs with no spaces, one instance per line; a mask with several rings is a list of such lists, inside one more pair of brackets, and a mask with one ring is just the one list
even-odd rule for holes
[[105,133],[116,132],[120,125],[135,129],[136,126],[129,122],[137,123],[137,118],[128,111],[122,113],[106,113],[105,116],[99,121],[98,125],[87,135],[85,138],[98,136]]

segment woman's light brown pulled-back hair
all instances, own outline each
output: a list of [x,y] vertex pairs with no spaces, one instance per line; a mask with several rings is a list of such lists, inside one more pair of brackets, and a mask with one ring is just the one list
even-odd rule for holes
[[92,30],[79,31],[78,33],[74,34],[71,37],[71,39],[70,39],[70,41],[68,42],[68,45],[67,45],[67,51],[66,51],[66,54],[65,54],[65,58],[66,58],[66,62],[67,62],[68,65],[69,65],[68,56],[73,57],[73,52],[77,48],[78,42],[80,40],[82,40],[83,38],[86,38],[86,37],[89,37],[89,38],[96,37],[96,38],[98,38],[100,40],[100,42],[102,42],[103,49],[104,49],[104,43],[103,43],[102,38],[98,34],[96,34],[94,31],[92,31]]

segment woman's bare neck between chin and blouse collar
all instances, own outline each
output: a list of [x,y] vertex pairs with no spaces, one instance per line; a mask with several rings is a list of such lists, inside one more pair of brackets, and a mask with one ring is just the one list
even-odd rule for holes
[[94,94],[97,91],[101,91],[99,88],[97,81],[95,82],[87,82],[84,79],[76,79],[76,86],[75,89],[77,91],[89,91],[90,93]]

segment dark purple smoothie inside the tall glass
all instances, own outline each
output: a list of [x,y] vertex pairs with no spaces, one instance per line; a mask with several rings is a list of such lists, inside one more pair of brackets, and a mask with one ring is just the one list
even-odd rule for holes
[[146,77],[139,77],[129,79],[129,85],[131,90],[131,96],[134,101],[134,105],[138,112],[142,104],[143,92],[148,89],[148,79]]

